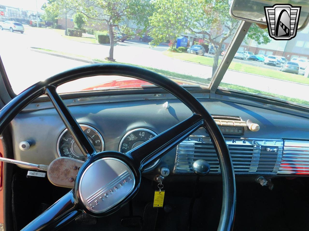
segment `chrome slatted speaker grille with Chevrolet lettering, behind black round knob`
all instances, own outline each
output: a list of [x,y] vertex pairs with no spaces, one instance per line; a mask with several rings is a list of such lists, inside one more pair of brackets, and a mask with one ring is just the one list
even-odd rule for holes
[[[260,172],[259,166],[271,166],[271,171],[267,173],[277,172],[282,155],[282,140],[258,140],[258,139],[244,139],[244,138],[225,138],[226,144],[231,153],[232,162],[235,173],[257,173]],[[279,142],[278,142],[279,141]],[[276,158],[260,159],[261,149],[270,145],[275,146],[274,151]],[[278,148],[280,146],[280,148]],[[277,160],[277,153],[280,152],[280,160]],[[220,173],[220,165],[215,151],[209,137],[190,136],[177,146],[176,159],[174,166],[174,173],[191,173],[192,164],[194,161],[203,159],[210,164],[210,173]],[[276,166],[277,165],[277,166]],[[275,168],[277,167],[277,168]],[[265,170],[265,168],[261,168]]]

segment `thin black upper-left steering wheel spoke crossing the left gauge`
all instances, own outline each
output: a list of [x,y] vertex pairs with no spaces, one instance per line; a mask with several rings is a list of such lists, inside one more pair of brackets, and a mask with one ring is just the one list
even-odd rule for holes
[[82,128],[79,126],[74,116],[70,112],[69,108],[61,99],[60,95],[56,91],[56,87],[49,85],[45,89],[45,94],[49,96],[52,101],[56,111],[58,112],[61,120],[66,125],[66,128],[75,140],[78,148],[82,151],[86,159],[95,154],[95,148],[90,143],[89,139],[83,132]]

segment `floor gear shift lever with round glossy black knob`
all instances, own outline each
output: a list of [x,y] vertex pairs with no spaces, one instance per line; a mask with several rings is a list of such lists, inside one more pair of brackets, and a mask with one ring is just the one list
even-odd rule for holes
[[206,160],[196,160],[192,164],[192,169],[195,174],[197,174],[195,187],[194,187],[194,193],[191,199],[190,207],[189,207],[189,219],[188,219],[188,231],[191,230],[191,223],[192,223],[192,212],[193,212],[193,206],[195,202],[195,198],[197,197],[198,192],[198,186],[200,181],[200,176],[205,176],[210,171],[210,165],[207,163]]

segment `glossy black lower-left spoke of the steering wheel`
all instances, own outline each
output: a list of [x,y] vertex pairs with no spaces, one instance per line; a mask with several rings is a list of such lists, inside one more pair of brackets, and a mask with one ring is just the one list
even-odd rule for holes
[[77,208],[77,203],[71,190],[21,231],[57,230],[82,213],[84,213],[83,210]]

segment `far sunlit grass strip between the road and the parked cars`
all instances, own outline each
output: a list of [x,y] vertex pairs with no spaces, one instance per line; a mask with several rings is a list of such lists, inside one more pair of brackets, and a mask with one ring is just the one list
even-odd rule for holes
[[[169,52],[169,51],[164,51],[163,54],[171,58],[190,61],[193,63],[201,63],[201,64],[210,65],[210,66],[213,65],[213,58],[208,58],[205,56],[190,55],[187,53],[175,53],[175,52]],[[221,59],[219,59],[219,62],[220,61]],[[261,64],[264,65],[263,63]],[[235,70],[235,71],[243,71],[243,72],[252,73],[252,74],[264,75],[264,76],[268,76],[268,77],[272,77],[276,79],[289,80],[289,81],[297,82],[297,83],[309,84],[309,78],[305,78],[303,75],[295,75],[295,74],[276,71],[276,70],[272,70],[272,69],[268,69],[264,67],[255,67],[255,66],[243,64],[243,63],[231,62],[229,69]]]

